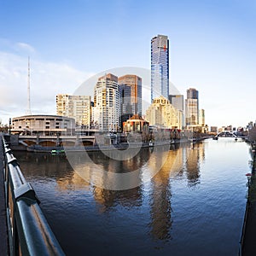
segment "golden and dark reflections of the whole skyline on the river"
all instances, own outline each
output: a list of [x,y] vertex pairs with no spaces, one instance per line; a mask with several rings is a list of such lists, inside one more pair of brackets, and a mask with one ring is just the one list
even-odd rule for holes
[[[108,212],[115,207],[125,208],[141,207],[143,201],[147,201],[150,208],[150,221],[148,223],[149,234],[153,239],[169,241],[172,239],[172,178],[186,175],[189,186],[200,183],[200,164],[203,162],[205,153],[202,143],[195,144],[193,148],[186,146],[172,147],[165,151],[154,148],[154,154],[149,148],[142,148],[134,157],[128,160],[113,160],[101,152],[89,153],[91,162],[84,160],[83,154],[74,154],[76,171],[69,165],[65,155],[46,154],[20,154],[17,158],[21,160],[26,177],[42,176],[55,180],[58,190],[83,189],[90,191],[94,200],[98,203],[100,212]],[[47,165],[45,163],[47,162]],[[30,165],[30,163],[32,163]],[[35,163],[38,168],[35,168]],[[160,169],[150,183],[143,183],[143,177],[152,175],[152,170]],[[101,172],[99,175],[98,170]],[[137,180],[131,183],[142,183],[133,189],[110,190],[104,189],[107,182],[116,183],[111,173],[129,173],[139,170]],[[82,174],[82,175],[81,175]],[[100,186],[95,186],[97,180]],[[145,186],[149,186],[148,190]]]

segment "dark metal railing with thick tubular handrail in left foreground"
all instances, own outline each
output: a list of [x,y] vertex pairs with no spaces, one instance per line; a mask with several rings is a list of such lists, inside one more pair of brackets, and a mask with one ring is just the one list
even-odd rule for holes
[[4,138],[3,150],[10,255],[65,255]]

